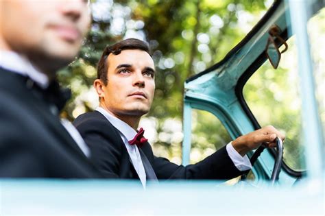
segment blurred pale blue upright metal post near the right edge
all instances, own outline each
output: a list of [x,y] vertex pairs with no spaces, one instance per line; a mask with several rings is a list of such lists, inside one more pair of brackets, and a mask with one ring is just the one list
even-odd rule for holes
[[315,99],[315,80],[309,49],[307,21],[311,5],[306,1],[289,0],[290,16],[293,33],[296,34],[298,49],[298,64],[300,74],[300,94],[302,97],[302,125],[304,143],[306,145],[307,177],[311,180],[322,179],[322,132],[320,118]]

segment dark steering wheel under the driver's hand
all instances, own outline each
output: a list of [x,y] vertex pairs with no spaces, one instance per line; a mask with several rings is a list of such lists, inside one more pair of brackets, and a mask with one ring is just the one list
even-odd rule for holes
[[[263,145],[261,145],[260,147],[258,147],[258,149],[256,149],[256,151],[254,152],[254,154],[252,155],[252,157],[250,158],[250,163],[252,164],[252,166],[254,165],[254,163],[256,162],[257,158],[261,155],[261,153],[264,151],[265,147]],[[271,184],[274,185],[274,183],[278,180],[279,174],[280,174],[280,170],[281,170],[281,165],[282,165],[282,158],[283,158],[283,143],[282,140],[279,139],[278,137],[276,137],[276,160],[274,162],[274,167],[273,167],[273,171],[272,171],[272,175],[270,178]],[[244,174],[242,176],[242,180],[245,180],[246,178],[246,174]]]

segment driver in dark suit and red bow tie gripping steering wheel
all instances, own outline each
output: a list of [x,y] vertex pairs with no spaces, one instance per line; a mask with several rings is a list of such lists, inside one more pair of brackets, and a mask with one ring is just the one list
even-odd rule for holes
[[143,187],[147,179],[229,179],[251,168],[245,156],[248,151],[263,142],[274,147],[276,136],[284,139],[268,126],[240,136],[200,163],[186,167],[154,156],[142,128],[136,130],[152,104],[155,73],[149,47],[141,40],[123,40],[104,50],[94,82],[99,108],[73,122],[102,173],[140,179]]

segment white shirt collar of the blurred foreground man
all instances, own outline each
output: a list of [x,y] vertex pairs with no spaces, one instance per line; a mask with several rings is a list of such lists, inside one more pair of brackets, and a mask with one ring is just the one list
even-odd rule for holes
[[42,88],[49,86],[49,78],[45,73],[36,69],[25,56],[13,51],[0,50],[0,67],[27,76]]

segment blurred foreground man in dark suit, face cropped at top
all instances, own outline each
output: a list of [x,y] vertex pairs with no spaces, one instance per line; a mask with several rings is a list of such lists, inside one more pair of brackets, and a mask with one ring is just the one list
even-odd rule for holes
[[[87,1],[0,1],[0,178],[99,178],[60,109],[56,71],[88,31]],[[68,94],[69,96],[69,94]]]

